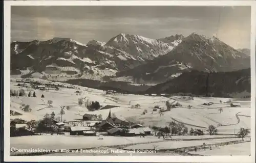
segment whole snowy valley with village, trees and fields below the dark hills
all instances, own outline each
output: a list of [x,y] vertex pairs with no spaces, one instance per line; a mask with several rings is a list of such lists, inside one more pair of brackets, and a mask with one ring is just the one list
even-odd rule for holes
[[[132,150],[156,150],[162,146],[164,150],[177,152],[186,147],[185,152],[193,149],[194,154],[198,154],[205,147],[203,143],[206,143],[205,149],[211,150],[215,145],[216,148],[231,147],[250,141],[249,103],[243,99],[125,95],[42,79],[12,79],[10,95],[12,146],[24,139],[30,139],[31,143],[47,139],[55,141],[58,147],[58,139],[67,139],[69,143],[61,147],[96,148],[108,144],[116,148],[130,144]],[[227,121],[227,117],[230,120]],[[82,138],[92,142],[72,144],[73,139]],[[166,144],[161,144],[162,141]],[[177,141],[181,142],[165,149],[168,142]],[[183,144],[183,141],[190,144]],[[22,146],[44,146],[38,143]],[[151,146],[143,145],[145,143]],[[158,152],[163,150],[161,148]],[[130,147],[122,150],[129,151]]]

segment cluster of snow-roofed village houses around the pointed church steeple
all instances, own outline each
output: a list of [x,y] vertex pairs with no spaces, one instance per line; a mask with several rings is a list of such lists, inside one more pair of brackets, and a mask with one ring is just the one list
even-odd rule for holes
[[[44,123],[48,128],[44,133],[51,134],[67,134],[69,132],[69,135],[95,136],[100,133],[101,135],[122,137],[144,137],[151,134],[149,127],[144,127],[141,124],[131,124],[122,117],[113,117],[111,111],[105,120],[99,120],[93,114],[84,114],[82,121],[57,122],[48,119],[42,120],[41,123]],[[26,123],[13,122],[13,125],[11,125],[11,137],[34,135],[35,133],[38,134],[35,129],[29,129]]]

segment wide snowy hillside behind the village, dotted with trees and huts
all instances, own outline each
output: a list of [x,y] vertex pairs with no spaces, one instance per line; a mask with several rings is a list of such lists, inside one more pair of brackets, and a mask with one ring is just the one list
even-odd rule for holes
[[[11,83],[11,89],[19,89],[17,83]],[[176,120],[185,123],[188,128],[201,128],[205,129],[209,125],[219,126],[220,133],[237,132],[240,127],[250,128],[250,101],[241,101],[241,107],[230,107],[230,103],[224,103],[229,99],[226,98],[197,98],[188,99],[187,97],[173,96],[173,97],[154,97],[143,95],[106,95],[104,91],[88,89],[77,86],[78,89],[60,88],[60,90],[48,90],[40,91],[24,88],[26,93],[31,90],[35,91],[37,97],[11,97],[11,110],[22,113],[22,116],[12,116],[11,118],[24,118],[25,120],[41,119],[46,113],[51,114],[54,112],[56,116],[59,116],[60,105],[70,106],[69,110],[66,110],[66,114],[63,115],[63,120],[73,121],[80,119],[84,113],[89,114],[101,114],[102,118],[106,118],[109,113],[108,110],[99,110],[95,112],[89,112],[87,107],[78,105],[78,98],[85,98],[104,105],[116,105],[111,109],[112,113],[117,116],[126,118],[131,121],[143,121],[145,125],[165,126],[169,122]],[[75,91],[80,93],[75,93]],[[45,98],[41,98],[44,94]],[[47,104],[48,100],[53,100],[51,107]],[[153,112],[153,107],[158,105],[159,107],[166,108],[165,101],[179,102],[183,106],[172,108],[169,112],[164,112],[164,115],[160,117],[158,112]],[[220,103],[220,100],[223,103]],[[202,105],[206,102],[214,102],[210,106]],[[237,102],[237,101],[236,101]],[[32,108],[30,113],[24,113],[20,110],[22,104],[29,104]],[[132,105],[140,104],[140,108],[132,108]],[[192,105],[192,108],[188,108],[188,105]],[[223,112],[220,113],[219,108],[223,108]],[[142,112],[147,110],[148,113],[142,115]],[[238,116],[236,116],[238,114]],[[239,119],[238,119],[239,118]],[[239,122],[239,123],[238,123]],[[228,126],[225,126],[228,125]]]

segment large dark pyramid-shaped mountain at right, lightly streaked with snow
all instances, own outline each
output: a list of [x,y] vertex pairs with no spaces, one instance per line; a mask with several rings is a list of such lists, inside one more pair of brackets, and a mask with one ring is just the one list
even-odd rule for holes
[[[121,36],[120,36],[121,37]],[[184,68],[187,67],[187,68]],[[235,71],[250,67],[250,57],[216,37],[193,33],[182,39],[173,50],[146,64],[117,73],[117,77],[133,76],[144,83],[163,83],[176,73],[190,70]]]

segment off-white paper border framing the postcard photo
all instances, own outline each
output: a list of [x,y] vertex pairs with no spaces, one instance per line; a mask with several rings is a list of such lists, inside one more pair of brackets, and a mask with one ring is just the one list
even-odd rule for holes
[[[251,156],[10,156],[11,6],[251,6]],[[5,1],[4,2],[4,161],[72,162],[254,162],[255,160],[255,1]]]

